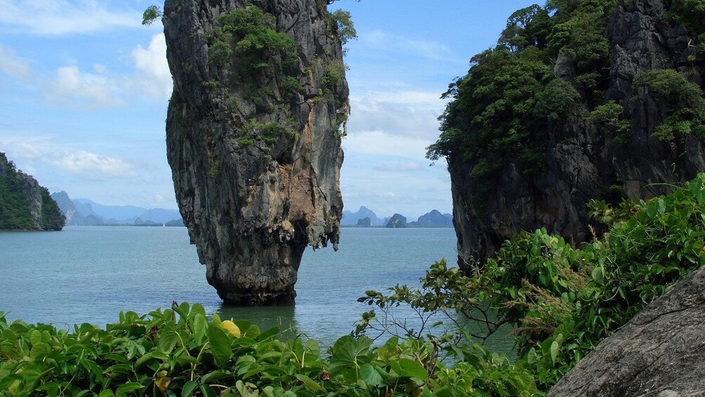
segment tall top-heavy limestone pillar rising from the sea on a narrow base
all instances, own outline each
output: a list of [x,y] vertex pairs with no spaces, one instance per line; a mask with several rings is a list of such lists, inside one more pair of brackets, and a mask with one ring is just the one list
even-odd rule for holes
[[321,0],[166,0],[163,22],[168,161],[207,279],[226,303],[293,303],[306,246],[340,233],[336,21]]

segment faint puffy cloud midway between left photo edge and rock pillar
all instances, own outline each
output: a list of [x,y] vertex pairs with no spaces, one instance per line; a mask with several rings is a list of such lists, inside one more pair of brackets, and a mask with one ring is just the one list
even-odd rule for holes
[[62,66],[56,70],[56,78],[47,85],[45,94],[58,104],[66,104],[66,99],[73,106],[85,106],[88,109],[100,109],[123,105],[116,97],[118,87],[114,86],[104,66],[95,65],[96,73],[80,71],[78,66]]

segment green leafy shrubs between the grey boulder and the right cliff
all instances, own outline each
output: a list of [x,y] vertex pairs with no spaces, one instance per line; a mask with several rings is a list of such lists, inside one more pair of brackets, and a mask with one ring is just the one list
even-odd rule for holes
[[[512,324],[521,357],[501,372],[527,371],[547,391],[600,341],[705,265],[705,174],[667,196],[590,207],[609,226],[593,243],[574,248],[541,229],[506,241],[472,276],[436,263],[420,289],[396,286],[360,298],[374,310],[363,314],[358,334],[403,326],[389,312],[400,305],[419,313],[422,324],[443,318],[455,325],[433,337],[441,350]],[[479,322],[484,335],[467,334],[460,319]]]

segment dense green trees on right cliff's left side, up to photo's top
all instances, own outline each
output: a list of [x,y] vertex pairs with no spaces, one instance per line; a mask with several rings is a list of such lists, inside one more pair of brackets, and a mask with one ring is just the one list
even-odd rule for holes
[[[482,208],[498,173],[515,164],[525,176],[546,168],[551,130],[575,119],[575,104],[604,102],[609,78],[608,18],[613,0],[553,0],[513,13],[498,46],[472,57],[464,78],[449,86],[441,136],[432,160],[448,157],[468,169],[470,203]],[[554,77],[556,59],[575,80]]]

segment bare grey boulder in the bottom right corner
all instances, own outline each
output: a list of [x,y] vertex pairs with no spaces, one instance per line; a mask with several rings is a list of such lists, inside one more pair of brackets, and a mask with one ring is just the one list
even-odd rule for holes
[[705,395],[705,268],[580,360],[548,396]]

